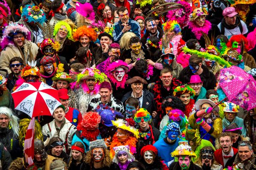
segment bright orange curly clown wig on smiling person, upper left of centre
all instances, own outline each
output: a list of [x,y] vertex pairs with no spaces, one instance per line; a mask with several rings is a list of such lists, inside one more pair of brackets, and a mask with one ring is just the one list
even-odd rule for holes
[[73,34],[73,38],[75,41],[79,41],[81,36],[86,35],[90,38],[90,41],[96,41],[97,34],[93,28],[87,28],[87,26],[79,27],[76,32]]

